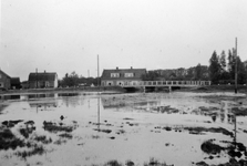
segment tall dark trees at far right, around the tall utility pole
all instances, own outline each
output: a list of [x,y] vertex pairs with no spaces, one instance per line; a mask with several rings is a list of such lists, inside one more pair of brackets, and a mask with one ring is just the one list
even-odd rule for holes
[[237,64],[237,82],[238,84],[247,83],[247,66],[236,56],[236,50],[228,50],[228,55],[223,50],[220,54],[213,52],[209,59],[209,79],[213,84],[234,84],[235,71]]

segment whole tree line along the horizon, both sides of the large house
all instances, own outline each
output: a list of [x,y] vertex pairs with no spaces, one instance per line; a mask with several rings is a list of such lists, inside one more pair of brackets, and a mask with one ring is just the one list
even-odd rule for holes
[[[209,59],[209,66],[200,65],[176,70],[154,70],[142,75],[143,81],[158,80],[191,80],[191,81],[212,81],[212,84],[234,84],[235,70],[237,63],[237,82],[238,84],[247,84],[247,65],[241,62],[239,56],[235,55],[235,49],[228,50],[228,54],[223,50],[220,54],[213,52]],[[84,77],[79,76],[74,71],[71,74],[65,74],[59,81],[59,86],[97,86],[101,83],[101,77]]]

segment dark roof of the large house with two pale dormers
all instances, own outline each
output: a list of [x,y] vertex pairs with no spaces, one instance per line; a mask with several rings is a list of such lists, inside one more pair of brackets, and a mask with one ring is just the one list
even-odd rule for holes
[[[120,73],[120,77],[111,77],[111,73]],[[146,74],[146,69],[114,69],[114,70],[104,70],[101,79],[126,79],[124,73],[134,73],[133,77],[130,79],[141,79],[143,74]]]

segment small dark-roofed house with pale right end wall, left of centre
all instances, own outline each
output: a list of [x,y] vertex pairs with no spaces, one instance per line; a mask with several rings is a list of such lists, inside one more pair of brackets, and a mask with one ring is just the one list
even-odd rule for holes
[[29,86],[30,89],[39,87],[58,87],[58,74],[56,73],[30,73]]

